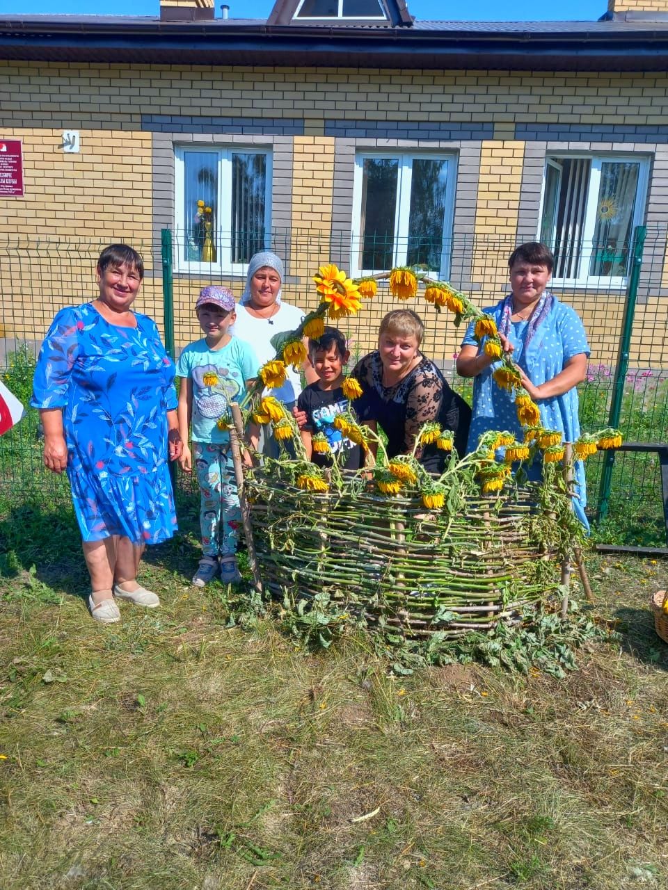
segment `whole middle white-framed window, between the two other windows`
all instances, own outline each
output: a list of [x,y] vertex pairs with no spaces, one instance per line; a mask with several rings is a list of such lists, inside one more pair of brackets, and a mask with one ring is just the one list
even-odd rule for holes
[[357,274],[404,265],[446,274],[454,169],[452,156],[358,155],[351,263]]

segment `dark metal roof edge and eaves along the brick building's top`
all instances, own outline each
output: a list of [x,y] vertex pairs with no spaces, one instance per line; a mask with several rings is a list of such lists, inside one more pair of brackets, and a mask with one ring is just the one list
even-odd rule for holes
[[570,71],[668,70],[668,17],[601,21],[265,20],[7,15],[0,59],[186,65]]

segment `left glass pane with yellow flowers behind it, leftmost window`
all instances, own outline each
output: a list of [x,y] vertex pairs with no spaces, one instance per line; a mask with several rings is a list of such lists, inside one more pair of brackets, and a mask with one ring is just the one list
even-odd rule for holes
[[[215,243],[218,229],[218,154],[211,151],[187,151],[183,156],[183,260],[200,261],[207,228]],[[205,212],[198,213],[198,201]],[[210,207],[210,213],[207,208]]]

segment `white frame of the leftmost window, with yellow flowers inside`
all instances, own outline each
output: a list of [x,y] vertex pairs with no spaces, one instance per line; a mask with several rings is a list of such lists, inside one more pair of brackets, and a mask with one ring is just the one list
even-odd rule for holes
[[[218,191],[216,195],[217,206],[224,208],[226,223],[218,232],[224,232],[225,240],[216,240],[216,263],[202,263],[201,260],[183,259],[183,242],[186,236],[186,221],[184,219],[183,195],[185,190],[185,156],[189,152],[203,152],[217,154],[218,156]],[[257,145],[210,145],[208,142],[189,142],[188,145],[175,145],[174,147],[174,224],[175,224],[175,271],[191,274],[224,274],[244,276],[248,263],[232,263],[232,155],[254,154],[265,155],[265,249],[271,239],[272,219],[272,149]],[[225,200],[225,196],[227,199]],[[219,217],[220,219],[220,217]]]

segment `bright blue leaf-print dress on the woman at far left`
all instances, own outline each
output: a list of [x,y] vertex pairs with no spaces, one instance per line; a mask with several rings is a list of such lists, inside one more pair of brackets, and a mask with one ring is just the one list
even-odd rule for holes
[[62,409],[67,473],[85,541],[158,544],[176,530],[167,461],[175,368],[153,320],[110,324],[91,303],[58,312],[37,360],[30,404]]

